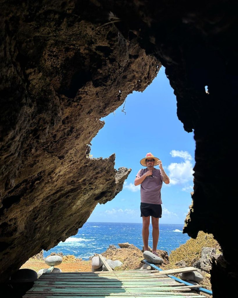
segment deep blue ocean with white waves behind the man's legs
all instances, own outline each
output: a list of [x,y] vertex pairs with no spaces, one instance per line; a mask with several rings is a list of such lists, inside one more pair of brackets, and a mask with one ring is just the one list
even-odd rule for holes
[[[182,224],[159,224],[159,242],[157,249],[166,250],[168,254],[190,237],[182,233]],[[142,224],[141,223],[101,223],[86,222],[77,235],[69,237],[65,242],[60,242],[54,248],[44,251],[47,257],[51,252],[62,252],[63,255],[74,255],[83,260],[95,253],[105,252],[110,244],[119,248],[118,243],[129,242],[142,249]],[[152,226],[150,225],[149,246],[152,247]]]

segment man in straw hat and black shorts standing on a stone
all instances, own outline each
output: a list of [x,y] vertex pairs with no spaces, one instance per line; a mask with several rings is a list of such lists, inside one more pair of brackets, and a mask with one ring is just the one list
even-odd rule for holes
[[[157,244],[159,240],[159,218],[162,216],[161,187],[162,183],[169,184],[169,177],[166,175],[162,162],[153,154],[147,153],[145,158],[141,159],[140,164],[146,167],[140,169],[136,175],[134,184],[140,185],[140,211],[143,220],[142,238],[144,250],[148,250],[150,217],[152,223],[152,252],[158,256]],[[154,166],[159,165],[159,169]]]

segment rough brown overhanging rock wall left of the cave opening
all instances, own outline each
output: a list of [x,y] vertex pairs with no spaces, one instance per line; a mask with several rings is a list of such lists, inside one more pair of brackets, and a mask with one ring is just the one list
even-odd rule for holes
[[[130,169],[90,142],[161,64],[114,24],[97,28],[77,1],[3,1],[0,277],[77,233]],[[93,20],[94,21],[94,20]]]

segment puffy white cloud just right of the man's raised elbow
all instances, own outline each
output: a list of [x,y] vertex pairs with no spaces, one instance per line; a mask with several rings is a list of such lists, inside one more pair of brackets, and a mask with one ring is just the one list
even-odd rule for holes
[[167,168],[169,170],[168,176],[171,184],[184,184],[193,180],[194,173],[192,163],[192,156],[187,151],[172,150],[170,152],[172,157],[180,157],[184,162],[172,162]]

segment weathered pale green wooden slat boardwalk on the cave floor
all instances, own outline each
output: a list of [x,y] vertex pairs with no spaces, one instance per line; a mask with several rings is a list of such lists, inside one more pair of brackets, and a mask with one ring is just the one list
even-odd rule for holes
[[205,297],[192,288],[157,270],[44,273],[23,298]]

